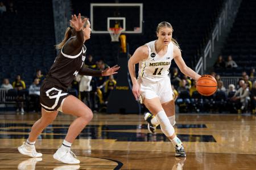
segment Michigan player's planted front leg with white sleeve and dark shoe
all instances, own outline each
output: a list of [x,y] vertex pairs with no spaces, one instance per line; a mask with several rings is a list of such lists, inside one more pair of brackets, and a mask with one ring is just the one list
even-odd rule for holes
[[186,154],[182,142],[179,138],[177,138],[174,127],[171,125],[166,112],[164,112],[159,98],[155,97],[153,99],[144,99],[143,103],[146,105],[147,109],[157,118],[161,130],[167,136],[167,138],[170,139],[172,145],[174,145],[176,151],[175,156],[185,157]]

